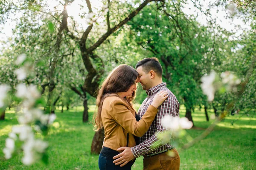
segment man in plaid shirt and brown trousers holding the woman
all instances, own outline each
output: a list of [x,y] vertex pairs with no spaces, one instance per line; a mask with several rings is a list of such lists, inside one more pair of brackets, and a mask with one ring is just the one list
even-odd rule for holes
[[139,73],[138,82],[148,95],[138,111],[140,117],[144,115],[158,91],[167,91],[169,97],[158,108],[157,116],[148,131],[139,138],[140,144],[131,148],[120,147],[118,150],[123,152],[113,157],[116,159],[113,163],[122,167],[132,159],[143,156],[143,170],[179,170],[180,156],[177,150],[171,144],[157,138],[157,134],[166,130],[161,125],[163,116],[179,116],[180,104],[175,95],[166,88],[166,82],[162,80],[163,69],[157,58],[145,58],[138,62],[135,68]]

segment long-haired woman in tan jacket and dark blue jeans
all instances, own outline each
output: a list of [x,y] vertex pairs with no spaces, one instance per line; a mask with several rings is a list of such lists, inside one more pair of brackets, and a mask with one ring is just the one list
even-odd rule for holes
[[124,167],[113,164],[113,156],[119,154],[119,147],[134,147],[134,136],[143,136],[157,114],[158,106],[168,97],[161,91],[154,97],[145,115],[137,122],[136,113],[131,104],[137,89],[138,73],[129,65],[116,67],[102,83],[96,105],[96,130],[104,127],[105,138],[99,155],[100,170],[131,170],[135,160]]

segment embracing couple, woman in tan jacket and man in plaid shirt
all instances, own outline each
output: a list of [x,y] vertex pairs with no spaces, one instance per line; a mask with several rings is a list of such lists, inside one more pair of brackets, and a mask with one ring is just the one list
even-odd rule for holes
[[[143,170],[179,170],[177,150],[170,143],[163,143],[157,134],[166,130],[161,125],[163,116],[179,116],[180,104],[166,88],[157,58],[145,58],[135,68],[137,71],[119,65],[99,90],[95,127],[105,130],[99,169],[131,170],[135,159],[143,156]],[[132,100],[138,82],[148,97],[137,113]]]

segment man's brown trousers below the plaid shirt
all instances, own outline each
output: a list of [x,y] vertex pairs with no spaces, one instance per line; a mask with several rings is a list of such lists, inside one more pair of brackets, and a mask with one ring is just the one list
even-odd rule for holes
[[[171,155],[171,156],[170,156]],[[144,157],[143,170],[179,170],[180,169],[180,156],[177,150],[172,150]]]

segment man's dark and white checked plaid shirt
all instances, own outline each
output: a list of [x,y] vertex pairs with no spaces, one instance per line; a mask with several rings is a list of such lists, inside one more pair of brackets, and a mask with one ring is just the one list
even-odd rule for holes
[[165,116],[166,114],[171,116],[180,115],[180,103],[177,101],[176,96],[172,93],[172,91],[170,91],[166,87],[166,82],[156,85],[146,91],[148,97],[143,101],[142,105],[140,106],[138,115],[142,117],[145,114],[148,106],[153,101],[154,95],[157,94],[158,91],[167,91],[169,97],[162,103],[162,105],[159,106],[157,116],[155,117],[154,122],[151,124],[148,131],[139,138],[140,144],[135,147],[131,147],[131,151],[136,158],[142,155],[159,153],[172,147],[170,143],[163,145],[162,141],[157,138],[157,133],[161,133],[166,130],[161,125],[161,119],[163,118],[163,116]]

